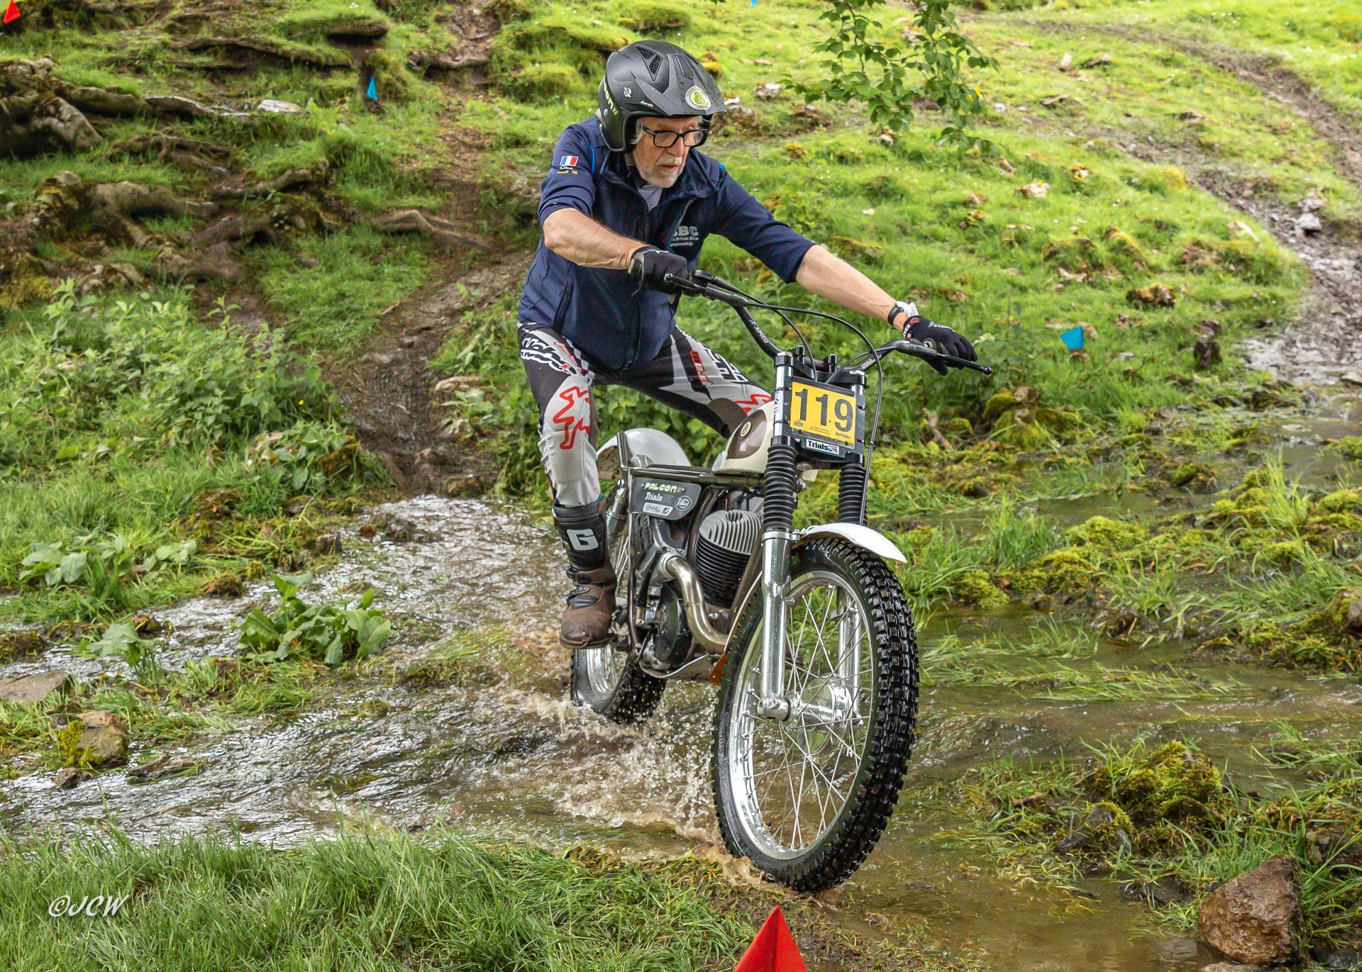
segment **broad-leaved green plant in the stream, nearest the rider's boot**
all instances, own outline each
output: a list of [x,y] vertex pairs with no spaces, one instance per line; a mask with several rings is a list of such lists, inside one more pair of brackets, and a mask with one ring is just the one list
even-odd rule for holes
[[256,607],[241,622],[237,644],[249,649],[248,659],[282,662],[302,655],[338,666],[369,658],[392,636],[392,622],[372,607],[373,588],[354,607],[308,604],[298,592],[311,583],[311,573],[275,576],[279,606],[271,614]]

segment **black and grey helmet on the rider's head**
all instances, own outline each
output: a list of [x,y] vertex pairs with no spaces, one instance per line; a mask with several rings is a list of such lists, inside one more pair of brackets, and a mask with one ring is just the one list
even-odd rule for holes
[[617,152],[629,147],[635,118],[700,114],[708,124],[710,116],[727,110],[700,61],[666,41],[635,41],[610,54],[597,99],[605,142]]

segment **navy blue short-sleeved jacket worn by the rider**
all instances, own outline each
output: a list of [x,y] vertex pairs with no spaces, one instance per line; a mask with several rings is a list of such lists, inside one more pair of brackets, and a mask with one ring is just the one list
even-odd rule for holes
[[[711,233],[733,241],[786,283],[799,271],[812,241],[779,222],[738,185],[723,165],[692,150],[681,177],[648,212],[624,152],[612,152],[601,125],[569,125],[553,148],[542,184],[539,225],[572,208],[632,240],[686,257],[693,270]],[[625,372],[656,357],[676,327],[671,299],[640,290],[622,270],[579,267],[548,246],[534,253],[520,295],[520,320],[552,327],[591,363]]]

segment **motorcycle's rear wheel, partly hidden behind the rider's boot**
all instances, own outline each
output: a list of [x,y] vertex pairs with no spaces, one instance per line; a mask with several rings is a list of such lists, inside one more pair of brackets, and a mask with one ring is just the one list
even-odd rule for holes
[[[610,564],[616,577],[629,576],[628,505],[617,491],[624,487],[616,483],[614,491],[606,500],[610,515],[606,517],[606,545],[610,549]],[[616,625],[617,632],[620,625]],[[572,652],[568,690],[572,701],[586,705],[594,712],[617,723],[643,722],[662,701],[665,679],[654,678],[642,671],[635,662],[635,652],[628,644],[628,630],[618,633],[616,640],[599,648],[577,648]]]

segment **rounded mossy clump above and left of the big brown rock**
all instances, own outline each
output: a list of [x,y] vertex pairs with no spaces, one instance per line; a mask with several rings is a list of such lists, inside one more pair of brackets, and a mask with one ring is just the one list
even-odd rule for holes
[[1111,756],[1081,785],[1094,800],[1110,800],[1139,826],[1208,821],[1229,798],[1220,771],[1177,741],[1152,753],[1141,743]]

